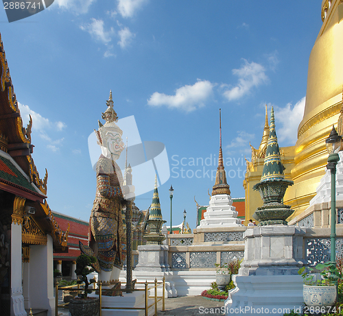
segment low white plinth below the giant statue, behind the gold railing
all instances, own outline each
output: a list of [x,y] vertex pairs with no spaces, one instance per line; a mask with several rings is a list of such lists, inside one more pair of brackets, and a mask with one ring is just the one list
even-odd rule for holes
[[[90,297],[98,297],[92,293]],[[148,305],[154,300],[149,299]],[[116,309],[106,309],[106,307],[116,307]],[[119,308],[118,308],[119,307]],[[144,308],[144,291],[135,291],[133,293],[123,292],[123,296],[104,296],[102,295],[102,316],[144,316],[145,310],[141,309],[121,309],[123,308]],[[118,309],[117,309],[118,308]],[[148,310],[148,315],[154,315],[154,304]]]

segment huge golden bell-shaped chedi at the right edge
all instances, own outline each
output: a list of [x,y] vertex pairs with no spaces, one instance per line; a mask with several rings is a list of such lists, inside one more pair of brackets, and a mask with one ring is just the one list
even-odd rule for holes
[[[285,204],[300,214],[316,195],[316,187],[327,165],[325,139],[338,122],[343,86],[343,2],[322,1],[322,27],[309,56],[306,104],[294,146],[295,166],[291,171],[294,186]],[[342,129],[338,128],[340,132]]]

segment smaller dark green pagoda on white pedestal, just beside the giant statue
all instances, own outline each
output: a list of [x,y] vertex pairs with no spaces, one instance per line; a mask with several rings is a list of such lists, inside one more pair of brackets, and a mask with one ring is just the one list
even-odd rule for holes
[[150,232],[143,236],[143,239],[147,241],[147,245],[162,245],[165,235],[162,234],[161,228],[165,222],[162,219],[160,198],[158,197],[157,190],[157,176],[155,175],[154,195],[152,196],[149,219],[147,219],[147,226],[150,228]]

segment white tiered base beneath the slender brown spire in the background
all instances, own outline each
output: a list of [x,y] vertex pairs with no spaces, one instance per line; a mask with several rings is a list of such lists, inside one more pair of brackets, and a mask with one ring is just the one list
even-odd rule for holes
[[200,221],[200,228],[243,226],[237,215],[238,212],[233,206],[230,195],[212,195],[209,207],[204,212],[204,219]]

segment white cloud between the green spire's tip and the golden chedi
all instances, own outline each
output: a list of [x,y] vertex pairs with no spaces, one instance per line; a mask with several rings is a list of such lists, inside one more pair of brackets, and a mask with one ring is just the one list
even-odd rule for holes
[[306,98],[300,99],[294,106],[291,103],[285,108],[274,106],[274,116],[276,125],[276,134],[279,145],[294,145],[298,139],[298,125],[303,119]]

